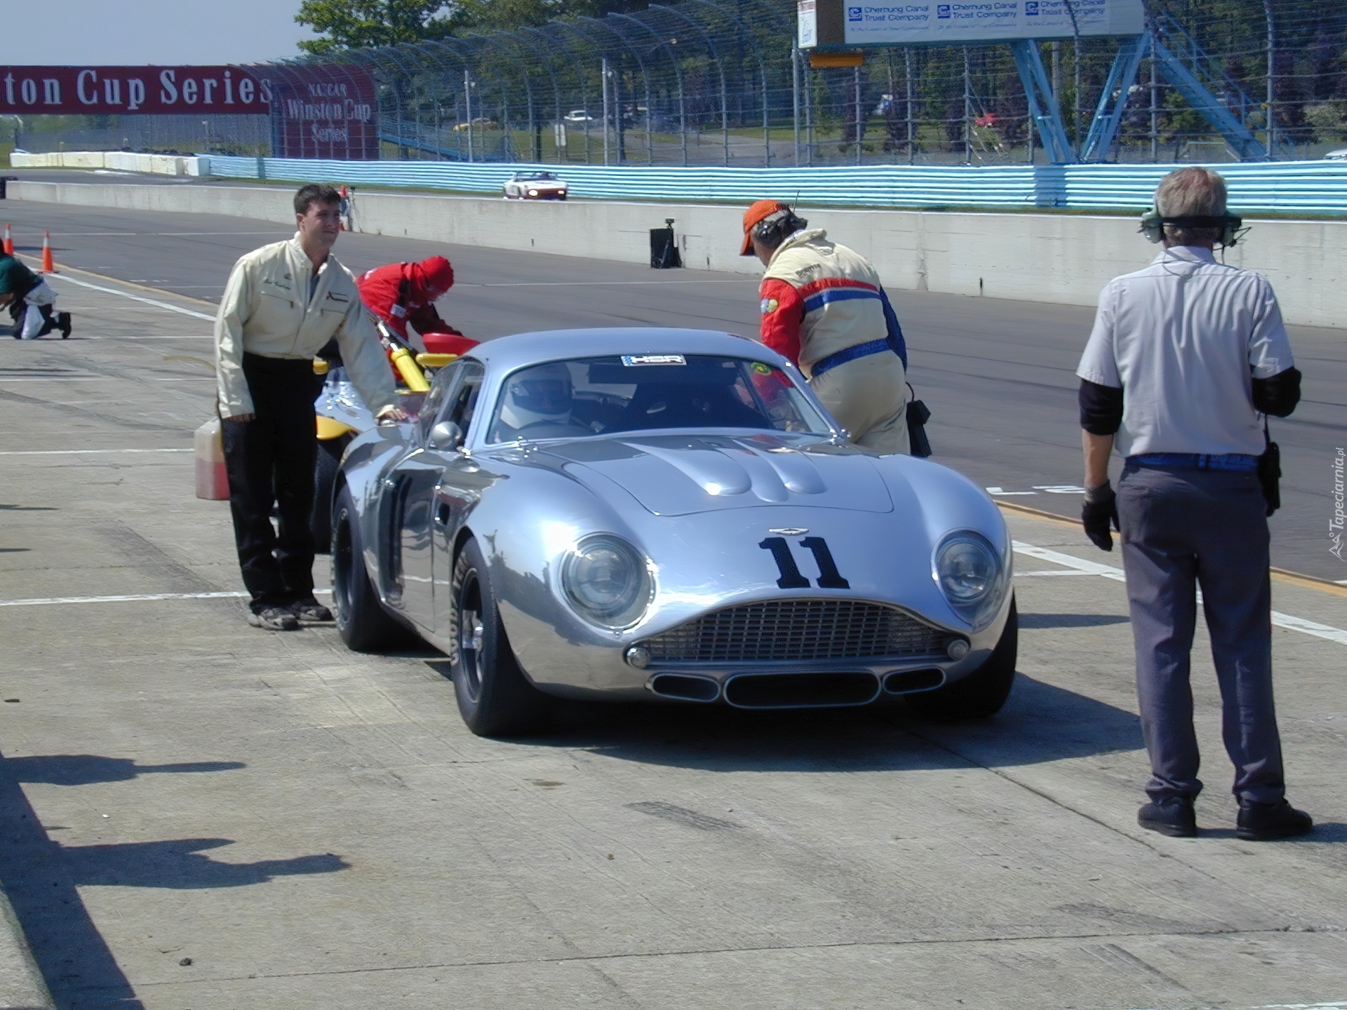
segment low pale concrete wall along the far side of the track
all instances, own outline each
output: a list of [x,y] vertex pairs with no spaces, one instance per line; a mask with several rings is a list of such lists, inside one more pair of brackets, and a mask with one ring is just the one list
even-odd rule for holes
[[[290,189],[12,182],[9,197],[77,206],[226,214],[288,224]],[[674,218],[683,264],[760,275],[738,256],[741,209],[715,205],[357,193],[353,230],[453,245],[649,261],[649,229]],[[801,206],[874,263],[888,288],[1092,306],[1114,276],[1149,263],[1158,246],[1131,217],[839,210]],[[1336,290],[1347,279],[1347,222],[1254,221],[1226,261],[1266,276],[1289,323],[1347,326]],[[1082,341],[1086,334],[1082,334]]]

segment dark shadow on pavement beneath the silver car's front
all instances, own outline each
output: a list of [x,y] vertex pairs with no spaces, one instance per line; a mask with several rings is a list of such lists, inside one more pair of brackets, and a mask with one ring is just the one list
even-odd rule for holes
[[1133,712],[1024,676],[991,719],[933,723],[901,703],[742,711],[725,706],[563,704],[529,743],[709,772],[902,772],[1034,765],[1142,746]]

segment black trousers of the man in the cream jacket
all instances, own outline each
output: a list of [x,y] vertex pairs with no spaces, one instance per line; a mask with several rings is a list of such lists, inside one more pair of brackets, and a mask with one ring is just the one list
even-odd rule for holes
[[[308,360],[244,354],[251,422],[222,424],[229,512],[252,609],[290,606],[314,595],[314,461],[317,393]],[[272,528],[277,506],[279,532]]]

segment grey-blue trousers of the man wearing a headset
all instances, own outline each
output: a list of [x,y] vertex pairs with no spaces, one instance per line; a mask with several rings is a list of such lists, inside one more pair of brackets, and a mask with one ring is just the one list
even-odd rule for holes
[[1272,691],[1265,513],[1253,473],[1129,462],[1118,481],[1153,800],[1202,790],[1189,684],[1199,586],[1220,685],[1222,734],[1235,765],[1234,793],[1241,803],[1276,803],[1285,792]]

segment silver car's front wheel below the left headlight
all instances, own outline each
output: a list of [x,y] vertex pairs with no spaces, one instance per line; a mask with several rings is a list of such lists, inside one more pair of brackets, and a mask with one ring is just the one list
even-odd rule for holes
[[475,540],[454,566],[454,652],[450,669],[458,711],[478,737],[511,737],[537,729],[547,698],[519,668],[496,610],[486,559]]

